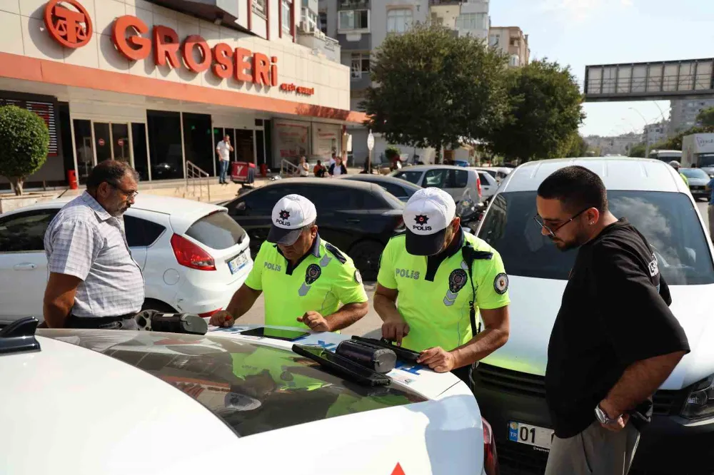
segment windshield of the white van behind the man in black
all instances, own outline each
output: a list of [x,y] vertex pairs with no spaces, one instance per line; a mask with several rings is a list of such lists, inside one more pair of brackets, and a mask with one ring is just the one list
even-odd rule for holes
[[[533,216],[535,191],[500,193],[478,237],[503,257],[509,275],[567,280],[576,250],[562,252],[540,234]],[[714,266],[702,225],[688,196],[655,191],[608,191],[610,210],[643,233],[670,285],[714,283]]]

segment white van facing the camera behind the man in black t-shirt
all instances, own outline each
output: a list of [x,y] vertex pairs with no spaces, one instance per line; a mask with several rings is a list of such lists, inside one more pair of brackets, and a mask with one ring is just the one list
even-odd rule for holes
[[[670,287],[670,308],[692,350],[655,392],[652,423],[642,434],[630,473],[710,474],[714,469],[714,249],[678,173],[667,163],[634,158],[525,163],[503,181],[481,221],[478,236],[501,253],[510,280],[511,336],[473,374],[478,404],[496,434],[499,461],[504,469],[542,474],[548,457],[552,430],[543,378],[548,339],[576,251],[556,249],[541,235],[533,216],[538,186],[565,165],[583,165],[598,173],[608,188],[613,214],[628,218],[647,237]],[[646,338],[646,332],[633,335],[638,337]],[[509,428],[513,428],[510,436]],[[531,429],[540,440],[518,436],[519,431],[531,434]]]

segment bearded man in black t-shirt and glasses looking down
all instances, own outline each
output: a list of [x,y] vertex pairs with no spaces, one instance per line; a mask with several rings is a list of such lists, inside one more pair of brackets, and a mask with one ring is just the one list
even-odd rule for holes
[[623,475],[651,396],[689,352],[647,240],[608,211],[587,168],[545,178],[535,221],[560,250],[578,249],[548,344],[545,397],[555,429],[545,475]]

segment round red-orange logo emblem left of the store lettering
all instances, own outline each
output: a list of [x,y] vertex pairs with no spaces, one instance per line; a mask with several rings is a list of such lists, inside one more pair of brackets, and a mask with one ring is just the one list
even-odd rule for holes
[[91,39],[91,18],[79,1],[47,2],[44,23],[54,41],[67,48],[79,48],[89,43]]

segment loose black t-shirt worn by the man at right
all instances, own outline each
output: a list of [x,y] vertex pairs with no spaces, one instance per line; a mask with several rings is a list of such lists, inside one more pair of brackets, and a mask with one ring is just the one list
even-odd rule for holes
[[[555,435],[572,437],[592,424],[630,364],[689,351],[671,302],[647,240],[624,218],[580,247],[548,343],[545,397]],[[642,427],[652,400],[631,414]]]

